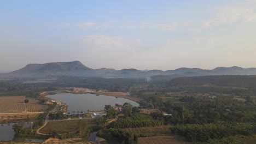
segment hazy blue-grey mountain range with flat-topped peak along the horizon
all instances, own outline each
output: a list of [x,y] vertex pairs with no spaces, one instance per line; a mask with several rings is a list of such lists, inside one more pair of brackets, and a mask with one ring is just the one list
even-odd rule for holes
[[45,76],[81,76],[104,78],[146,78],[153,80],[170,80],[175,77],[205,75],[256,75],[256,68],[218,67],[212,70],[200,68],[179,68],[175,70],[137,70],[137,69],[91,69],[79,61],[55,62],[45,64],[28,64],[26,67],[2,74],[13,77],[45,77]]

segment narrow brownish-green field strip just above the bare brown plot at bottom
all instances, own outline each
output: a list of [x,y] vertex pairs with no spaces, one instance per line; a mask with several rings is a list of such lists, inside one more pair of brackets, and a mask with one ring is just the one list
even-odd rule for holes
[[139,136],[165,136],[171,135],[171,125],[162,125],[160,127],[147,127],[147,128],[126,128],[125,131],[129,131],[132,134]]

